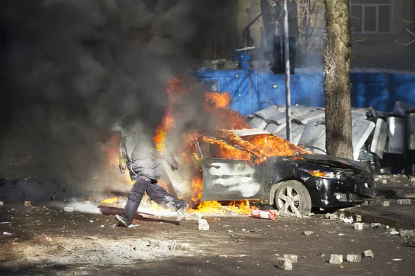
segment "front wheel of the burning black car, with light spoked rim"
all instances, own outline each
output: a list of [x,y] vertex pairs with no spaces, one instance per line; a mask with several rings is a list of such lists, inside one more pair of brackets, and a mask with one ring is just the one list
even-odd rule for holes
[[309,215],[311,211],[310,193],[296,180],[279,184],[275,191],[274,203],[281,215]]

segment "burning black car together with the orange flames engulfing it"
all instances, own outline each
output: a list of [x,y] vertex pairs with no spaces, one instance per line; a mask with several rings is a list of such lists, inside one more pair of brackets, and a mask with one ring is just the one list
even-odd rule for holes
[[[196,96],[180,79],[169,81],[166,92],[169,103],[153,140],[160,153],[165,146],[173,149],[179,168],[172,172],[163,163],[161,181],[196,210],[221,210],[217,201],[234,201],[245,214],[250,213],[248,200],[258,200],[283,213],[304,215],[311,207],[350,206],[374,196],[374,179],[365,165],[312,155],[282,137],[252,130],[230,109],[230,94],[198,94],[204,99],[195,106]],[[176,143],[169,145],[169,137]],[[111,158],[118,154],[113,150]]]

